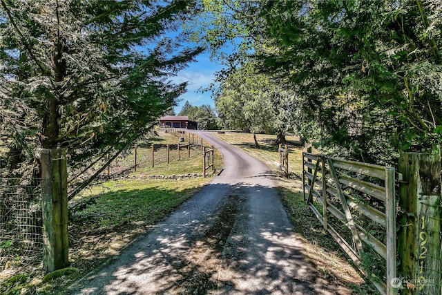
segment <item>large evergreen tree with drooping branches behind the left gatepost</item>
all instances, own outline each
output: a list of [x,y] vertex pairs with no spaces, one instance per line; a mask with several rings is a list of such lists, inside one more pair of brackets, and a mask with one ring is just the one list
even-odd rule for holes
[[185,91],[168,77],[200,52],[180,46],[185,36],[166,37],[192,5],[1,0],[0,128],[11,173],[37,175],[37,150],[64,148],[75,180],[151,129]]

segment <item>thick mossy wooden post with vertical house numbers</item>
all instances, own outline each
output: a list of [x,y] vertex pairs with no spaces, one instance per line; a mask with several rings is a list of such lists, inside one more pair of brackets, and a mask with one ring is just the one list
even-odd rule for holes
[[403,153],[398,172],[401,294],[441,294],[441,157]]

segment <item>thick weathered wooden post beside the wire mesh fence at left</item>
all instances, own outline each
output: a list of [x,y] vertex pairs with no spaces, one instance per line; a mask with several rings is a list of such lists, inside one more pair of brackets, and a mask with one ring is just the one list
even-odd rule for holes
[[66,151],[41,151],[41,178],[44,267],[53,272],[69,265]]

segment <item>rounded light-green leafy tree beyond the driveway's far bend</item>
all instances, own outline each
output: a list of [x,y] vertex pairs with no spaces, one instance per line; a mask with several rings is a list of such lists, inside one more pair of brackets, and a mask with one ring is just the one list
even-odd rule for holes
[[287,142],[287,133],[295,133],[301,140],[316,135],[316,124],[306,120],[296,92],[259,73],[256,66],[244,64],[224,79],[215,99],[221,124],[230,129],[276,134],[282,144]]

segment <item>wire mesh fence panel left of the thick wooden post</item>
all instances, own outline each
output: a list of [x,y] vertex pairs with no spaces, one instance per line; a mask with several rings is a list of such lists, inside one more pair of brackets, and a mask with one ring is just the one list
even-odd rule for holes
[[43,261],[41,179],[0,178],[0,272]]

